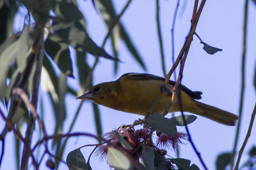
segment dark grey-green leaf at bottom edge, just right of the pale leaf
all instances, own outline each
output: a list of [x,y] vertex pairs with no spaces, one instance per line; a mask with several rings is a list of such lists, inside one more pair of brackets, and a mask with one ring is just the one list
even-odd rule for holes
[[147,170],[154,170],[154,151],[150,146],[142,145],[141,166]]

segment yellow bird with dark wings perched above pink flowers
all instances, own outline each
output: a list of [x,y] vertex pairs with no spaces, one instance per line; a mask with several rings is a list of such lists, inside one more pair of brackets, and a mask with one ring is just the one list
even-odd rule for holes
[[[146,115],[159,94],[159,87],[164,84],[164,80],[152,74],[127,73],[116,81],[93,86],[77,99],[89,99],[114,110]],[[174,85],[175,81],[170,80],[166,87],[172,92]],[[194,113],[224,125],[236,124],[237,115],[196,101],[195,99],[202,98],[202,92],[191,91],[181,84],[177,90],[181,93],[182,111]],[[152,113],[163,113],[166,110],[172,99],[170,92],[162,94]],[[168,113],[175,111],[180,111],[177,93]]]

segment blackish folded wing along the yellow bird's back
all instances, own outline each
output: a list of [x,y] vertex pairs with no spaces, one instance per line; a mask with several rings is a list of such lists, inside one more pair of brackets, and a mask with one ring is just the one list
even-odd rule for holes
[[[124,78],[124,77],[151,79],[151,80],[153,79],[153,80],[161,80],[161,81],[165,80],[165,78],[163,78],[163,77],[155,76],[152,74],[146,74],[146,73],[126,73],[126,74],[122,75],[120,78]],[[169,83],[174,86],[176,82],[169,80]],[[189,90],[188,87],[186,87],[182,84],[179,84],[178,89],[186,92],[186,94],[188,94],[188,96],[190,96],[190,97],[193,97],[193,99],[202,99],[202,97],[201,97],[202,92]]]

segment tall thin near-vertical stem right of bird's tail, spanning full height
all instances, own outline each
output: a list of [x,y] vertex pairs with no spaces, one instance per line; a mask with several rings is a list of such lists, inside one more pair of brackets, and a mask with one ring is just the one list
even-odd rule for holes
[[236,138],[234,141],[234,147],[233,147],[232,155],[231,155],[231,159],[230,159],[230,170],[232,170],[234,167],[234,160],[235,160],[236,149],[237,149],[237,141],[239,138],[242,111],[243,111],[243,103],[244,103],[247,18],[248,18],[248,0],[246,0],[245,4],[244,4],[243,53],[242,53],[242,66],[241,66],[241,93],[240,93],[240,104],[239,104],[239,116],[238,116],[237,127],[236,127]]

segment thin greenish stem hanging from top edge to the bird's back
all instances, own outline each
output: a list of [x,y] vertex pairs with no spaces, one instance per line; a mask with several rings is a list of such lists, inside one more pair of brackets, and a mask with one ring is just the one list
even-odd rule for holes
[[164,47],[163,47],[163,39],[162,39],[161,24],[160,24],[159,0],[156,0],[156,23],[157,23],[158,40],[159,40],[159,46],[160,46],[160,52],[161,52],[162,69],[163,69],[163,74],[165,76],[166,69],[164,66]]

